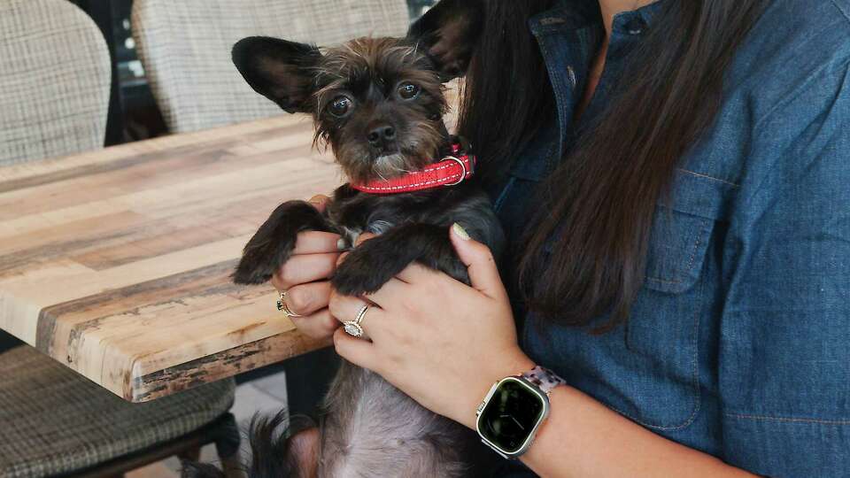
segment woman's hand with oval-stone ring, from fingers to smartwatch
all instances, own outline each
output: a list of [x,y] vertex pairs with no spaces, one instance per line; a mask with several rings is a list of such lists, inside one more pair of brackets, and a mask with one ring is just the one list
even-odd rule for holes
[[413,264],[367,297],[332,293],[330,312],[353,320],[371,342],[336,331],[336,351],[381,374],[421,405],[475,428],[475,408],[493,382],[533,364],[520,351],[507,294],[491,251],[452,227],[472,287]]

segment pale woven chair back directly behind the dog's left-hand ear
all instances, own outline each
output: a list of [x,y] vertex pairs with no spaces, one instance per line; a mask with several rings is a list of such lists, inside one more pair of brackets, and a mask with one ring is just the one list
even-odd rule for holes
[[282,114],[230,61],[233,44],[267,35],[331,45],[404,35],[405,0],[135,0],[133,36],[172,133]]

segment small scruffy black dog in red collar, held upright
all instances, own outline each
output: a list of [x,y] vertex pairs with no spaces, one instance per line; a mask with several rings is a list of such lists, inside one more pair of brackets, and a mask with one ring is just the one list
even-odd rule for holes
[[[312,114],[316,140],[330,144],[351,181],[336,189],[324,213],[304,201],[278,206],[245,246],[237,283],[268,281],[307,230],[343,236],[351,251],[331,282],[351,296],[380,289],[412,262],[469,283],[449,240],[454,222],[498,257],[502,229],[488,197],[466,181],[469,161],[450,159],[461,173],[444,186],[363,192],[392,189],[381,185],[468,153],[444,125],[444,82],[466,70],[481,16],[477,2],[444,0],[405,38],[360,38],[325,50],[267,37],[236,43],[233,59],[245,80],[283,110]],[[353,248],[363,232],[377,236]],[[290,425],[288,437],[277,431],[285,413],[256,420],[251,476],[463,476],[468,452],[479,445],[469,430],[346,362],[321,410],[319,428]],[[195,476],[217,473],[192,469]]]

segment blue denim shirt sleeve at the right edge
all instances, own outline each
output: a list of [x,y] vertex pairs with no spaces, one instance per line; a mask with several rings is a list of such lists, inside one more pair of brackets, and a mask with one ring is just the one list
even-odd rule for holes
[[725,458],[769,476],[850,470],[850,64],[755,123],[724,239]]

